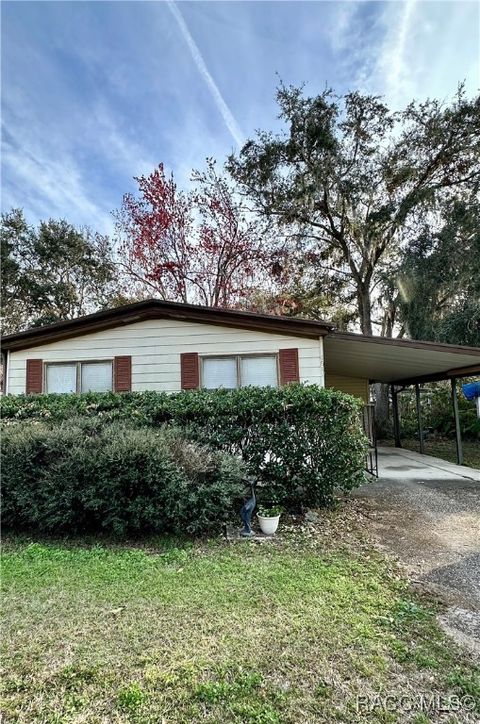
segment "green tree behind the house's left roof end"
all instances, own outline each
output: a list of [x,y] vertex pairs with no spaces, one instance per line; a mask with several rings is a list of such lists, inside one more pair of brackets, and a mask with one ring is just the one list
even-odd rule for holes
[[29,225],[20,209],[1,220],[1,316],[4,331],[88,314],[117,293],[107,237],[65,220]]

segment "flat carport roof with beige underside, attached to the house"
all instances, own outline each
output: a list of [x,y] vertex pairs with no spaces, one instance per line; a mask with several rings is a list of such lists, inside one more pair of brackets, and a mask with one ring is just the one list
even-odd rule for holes
[[326,374],[412,384],[480,374],[480,348],[330,332]]

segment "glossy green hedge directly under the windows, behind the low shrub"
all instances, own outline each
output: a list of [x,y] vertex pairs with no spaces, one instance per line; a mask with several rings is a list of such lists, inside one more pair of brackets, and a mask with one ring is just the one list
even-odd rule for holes
[[0,402],[6,421],[59,422],[81,415],[103,424],[123,420],[138,427],[182,428],[192,439],[241,457],[261,483],[265,502],[288,510],[329,504],[335,489],[364,482],[361,407],[350,395],[316,385],[173,395],[6,396]]

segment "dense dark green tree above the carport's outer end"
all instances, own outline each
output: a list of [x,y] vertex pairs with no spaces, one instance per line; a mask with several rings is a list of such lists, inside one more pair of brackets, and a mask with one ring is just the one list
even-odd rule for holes
[[399,317],[413,339],[480,346],[480,202],[454,199],[399,269]]

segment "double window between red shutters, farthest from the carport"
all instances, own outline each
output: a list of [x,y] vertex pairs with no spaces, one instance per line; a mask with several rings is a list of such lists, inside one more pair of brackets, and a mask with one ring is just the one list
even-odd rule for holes
[[46,365],[47,392],[107,392],[112,389],[111,362],[57,362]]

